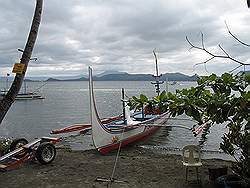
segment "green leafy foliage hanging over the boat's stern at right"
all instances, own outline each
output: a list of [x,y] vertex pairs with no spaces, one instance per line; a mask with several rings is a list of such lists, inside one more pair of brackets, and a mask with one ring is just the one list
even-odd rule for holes
[[235,172],[250,178],[250,74],[233,75],[224,73],[221,77],[211,74],[200,77],[196,87],[163,91],[152,100],[143,94],[133,96],[129,105],[141,109],[142,104],[160,112],[169,112],[172,117],[186,114],[198,125],[209,123],[228,127],[220,148],[236,160]]

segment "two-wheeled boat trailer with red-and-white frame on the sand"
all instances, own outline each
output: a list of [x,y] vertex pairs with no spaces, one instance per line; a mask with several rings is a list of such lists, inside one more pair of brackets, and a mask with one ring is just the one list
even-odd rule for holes
[[6,171],[21,166],[24,162],[36,159],[41,164],[49,164],[56,157],[55,143],[60,138],[42,137],[30,143],[25,138],[15,139],[9,153],[0,157],[0,170]]

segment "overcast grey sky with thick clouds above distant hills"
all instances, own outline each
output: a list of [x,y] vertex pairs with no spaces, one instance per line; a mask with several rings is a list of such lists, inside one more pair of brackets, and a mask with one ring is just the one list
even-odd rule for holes
[[[0,0],[0,76],[10,73],[24,48],[35,0]],[[227,32],[250,43],[246,0],[44,0],[42,23],[27,76],[68,76],[107,70],[154,73],[156,49],[160,72],[221,74],[237,64],[215,59],[185,40],[250,63],[250,49]],[[249,70],[249,67],[246,67]]]

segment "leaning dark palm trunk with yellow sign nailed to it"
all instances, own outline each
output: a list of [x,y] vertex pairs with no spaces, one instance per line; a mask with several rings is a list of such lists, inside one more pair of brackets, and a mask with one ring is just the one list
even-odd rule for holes
[[21,57],[20,63],[25,65],[23,74],[16,74],[15,79],[8,91],[8,93],[4,96],[4,98],[0,101],[0,124],[2,123],[6,113],[8,112],[9,108],[11,107],[12,103],[15,101],[15,97],[17,96],[25,76],[25,72],[28,67],[28,63],[30,61],[32,51],[36,42],[36,38],[38,35],[38,29],[41,21],[42,15],[42,7],[43,7],[43,0],[36,1],[36,8],[35,13],[33,16],[33,21],[29,33],[29,37],[27,43],[25,45],[24,52]]

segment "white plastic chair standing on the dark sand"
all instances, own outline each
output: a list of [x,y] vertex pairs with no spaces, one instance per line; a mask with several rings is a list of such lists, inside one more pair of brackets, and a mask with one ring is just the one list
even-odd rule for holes
[[182,163],[186,167],[186,181],[188,177],[188,167],[195,167],[197,181],[200,182],[198,176],[198,167],[202,166],[200,148],[196,145],[187,145],[182,149],[182,156]]

